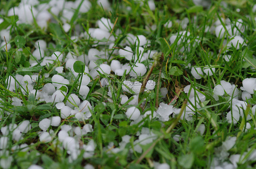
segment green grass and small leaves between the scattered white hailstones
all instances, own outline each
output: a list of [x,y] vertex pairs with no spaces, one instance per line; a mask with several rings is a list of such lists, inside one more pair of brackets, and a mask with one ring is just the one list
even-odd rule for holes
[[[41,3],[44,2],[48,2],[48,0]],[[9,161],[12,161],[12,168],[16,169],[26,169],[31,164],[41,165],[45,169],[82,169],[86,164],[92,164],[95,168],[107,169],[147,169],[156,167],[158,165],[156,163],[167,163],[170,168],[210,169],[214,167],[215,159],[219,159],[221,164],[231,163],[232,155],[244,155],[237,164],[238,167],[255,168],[256,160],[250,158],[256,148],[255,116],[251,115],[251,120],[246,120],[242,115],[237,124],[229,123],[226,115],[229,111],[231,113],[234,111],[230,104],[232,104],[231,98],[235,96],[225,93],[223,97],[219,97],[218,101],[213,96],[213,89],[220,84],[221,80],[234,84],[241,91],[240,87],[242,87],[244,79],[256,77],[256,21],[254,19],[256,13],[252,11],[254,1],[218,0],[211,1],[210,7],[204,8],[194,5],[192,0],[156,0],[154,11],[150,10],[146,0],[141,6],[135,0],[111,0],[111,10],[109,11],[103,10],[95,0],[90,2],[92,7],[87,13],[79,14],[79,10],[75,10],[69,22],[72,29],[65,33],[62,27],[64,23],[59,15],[53,16],[54,19],[47,23],[46,30],[38,26],[36,19],[32,24],[17,24],[18,17],[10,17],[6,14],[10,8],[17,6],[19,1],[1,0],[0,17],[4,19],[4,22],[0,24],[0,30],[10,27],[11,39],[7,43],[11,44],[11,48],[8,48],[8,51],[0,51],[0,128],[10,124],[19,125],[20,122],[29,120],[32,129],[23,134],[23,139],[18,141],[12,140],[12,132],[10,132],[7,135],[9,139],[7,146],[1,150],[0,161],[8,157],[12,158]],[[222,2],[225,2],[227,7]],[[236,11],[238,8],[240,12]],[[112,32],[114,48],[109,49],[107,43],[102,43],[110,42],[110,39],[103,39],[99,43],[97,39],[93,39],[89,35],[87,38],[80,37],[79,31],[87,34],[89,28],[95,28],[97,20],[102,17],[109,18],[112,23],[116,22]],[[189,19],[189,24],[182,29],[182,25],[177,19],[182,20],[185,17]],[[214,27],[215,21],[221,18],[230,19],[231,27],[238,29],[245,39],[246,45],[239,49],[236,49],[236,46],[227,48],[226,44],[230,41],[228,34],[225,34],[223,38],[217,38],[214,31],[205,31],[207,27]],[[243,20],[244,32],[235,24],[238,19]],[[164,27],[168,20],[173,23],[171,28]],[[226,29],[223,21],[221,24]],[[152,29],[153,25],[156,29]],[[134,54],[132,61],[115,53],[125,47],[124,41],[127,41],[129,33],[134,34],[135,37],[142,34],[150,40],[141,53],[138,52],[138,39],[136,44],[129,45]],[[169,39],[174,34],[178,38],[170,43]],[[72,40],[72,36],[77,36],[78,40]],[[185,40],[179,44],[179,38]],[[56,59],[52,64],[42,67],[40,64],[43,60],[41,59],[37,61],[36,66],[30,68],[29,60],[35,60],[32,53],[35,50],[34,43],[38,39],[44,39],[47,43],[45,56],[51,56],[55,51],[63,53],[64,58],[69,52],[74,53],[74,56],[84,56],[88,54],[90,48],[97,48],[106,56],[99,58],[96,61],[97,65],[101,63],[110,65],[111,61],[115,59],[122,64],[129,63],[133,68],[135,63],[139,63],[139,58],[143,53],[162,52],[164,58],[160,62],[159,60],[156,62],[152,58],[141,62],[146,66],[147,73],[149,72],[148,65],[156,62],[154,69],[149,73],[150,79],[154,79],[156,86],[152,91],[140,93],[136,107],[140,110],[141,115],[146,111],[152,111],[153,114],[153,111],[158,110],[156,105],[161,102],[166,104],[171,102],[170,105],[180,110],[175,111],[176,115],[169,116],[169,121],[162,122],[157,117],[151,119],[148,116],[141,121],[133,122],[125,115],[126,110],[133,106],[128,104],[132,101],[133,94],[122,90],[122,83],[127,80],[127,77],[125,75],[116,76],[114,72],[111,72],[110,75],[100,74],[94,79],[88,75],[91,82],[87,85],[90,91],[86,100],[92,105],[92,110],[90,110],[92,116],[82,121],[78,121],[74,115],[61,119],[60,126],[50,126],[47,130],[51,130],[53,140],[48,143],[41,142],[38,136],[38,132],[41,131],[38,126],[39,122],[44,118],[60,116],[60,110],[56,108],[55,103],[40,101],[36,98],[36,94],[29,94],[29,85],[26,85],[26,82],[25,85],[16,87],[11,92],[8,90],[7,81],[10,82],[10,77],[15,78],[16,74],[23,76],[38,74],[40,77],[33,86],[38,93],[46,83],[51,82],[51,77],[54,74],[60,74],[70,82],[67,85],[67,95],[64,93],[66,89],[62,88],[65,95],[64,102],[71,101],[68,97],[72,93],[83,101],[85,99],[79,95],[79,88],[81,87],[84,64],[77,63],[77,67],[79,67],[76,70],[79,73],[77,77],[74,76],[70,68],[65,67],[64,59]],[[21,48],[20,52],[17,51],[19,48]],[[232,56],[229,62],[224,59],[227,54]],[[56,57],[58,58],[58,56]],[[86,57],[84,63],[88,66]],[[210,67],[210,72],[213,75],[208,76],[204,73],[201,79],[195,79],[191,74],[190,65],[200,68]],[[55,70],[59,66],[65,67],[62,73],[57,73]],[[213,68],[215,68],[215,72]],[[99,81],[102,77],[108,78],[110,89],[101,86]],[[143,82],[143,78],[137,80]],[[18,83],[18,80],[15,79],[15,82]],[[21,86],[21,84],[19,85]],[[194,100],[183,91],[187,85],[191,85],[189,93],[192,90],[196,91]],[[161,87],[168,89],[166,97],[161,97],[159,92]],[[120,95],[123,94],[126,94],[129,100],[122,105]],[[13,97],[21,99],[22,106],[13,106]],[[199,97],[205,97],[205,101],[198,101]],[[241,100],[241,92],[239,92],[239,100]],[[188,111],[189,108],[186,105],[193,102],[197,102],[199,106],[192,106],[193,116],[190,116],[188,121],[182,113]],[[246,102],[248,103],[247,108],[240,113],[247,115],[251,114],[251,107],[256,104],[256,93],[254,92],[252,98]],[[74,106],[77,107],[77,105]],[[245,129],[246,122],[251,124],[251,129]],[[71,161],[71,155],[68,155],[67,150],[62,148],[62,143],[58,140],[58,132],[63,125],[82,128],[85,124],[91,124],[93,131],[83,135],[79,139],[79,144],[82,147],[82,145],[87,145],[90,140],[94,140],[95,150],[90,158],[84,158],[85,150],[81,148],[81,155]],[[202,124],[205,126],[205,131],[200,134],[199,130]],[[150,131],[153,141],[146,145],[140,145],[142,149],[140,152],[138,138],[142,132],[146,132],[145,130]],[[1,138],[2,135],[3,133],[0,134]],[[114,153],[113,150],[117,150],[116,148],[120,148],[124,144],[122,137],[125,135],[129,135],[130,140],[122,150]],[[179,135],[178,141],[174,140],[174,135]],[[229,137],[236,137],[235,145],[230,150],[221,152],[222,143]],[[27,144],[28,148],[21,146],[14,149],[15,146],[23,144]]]

